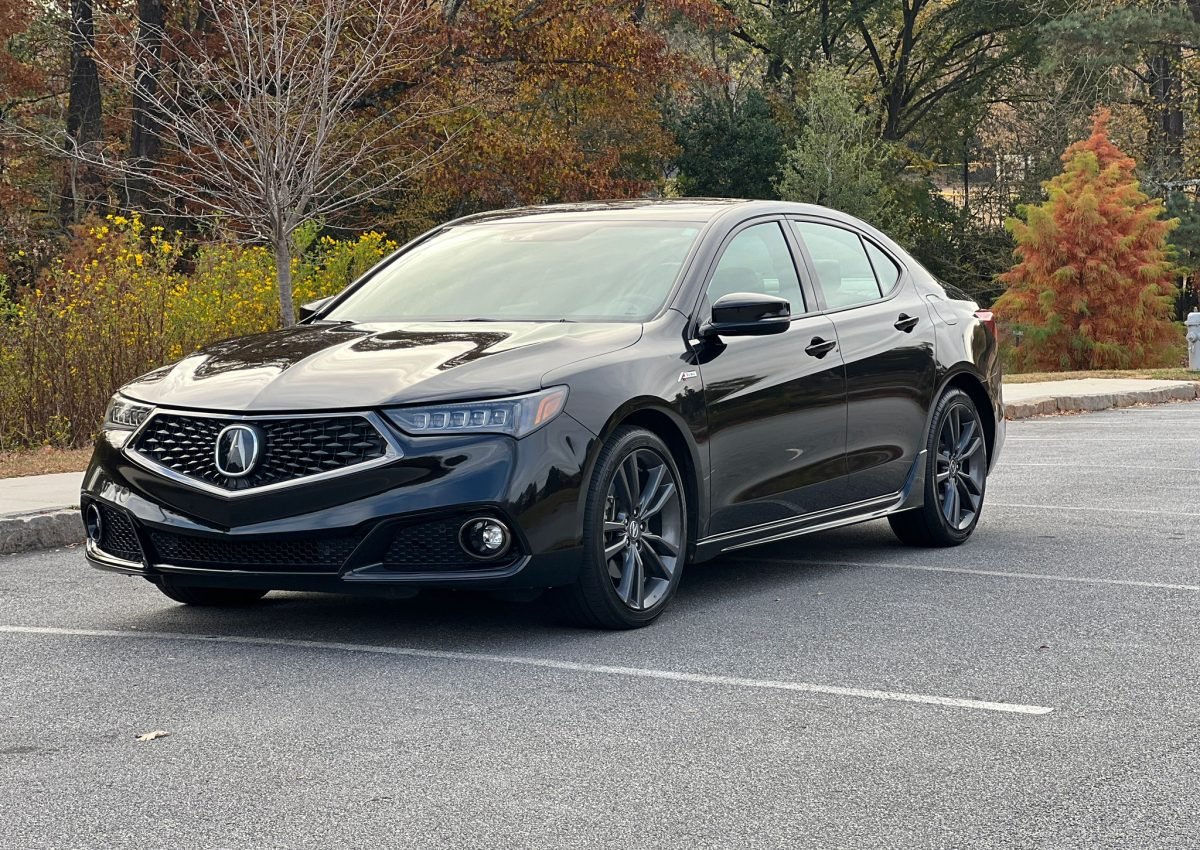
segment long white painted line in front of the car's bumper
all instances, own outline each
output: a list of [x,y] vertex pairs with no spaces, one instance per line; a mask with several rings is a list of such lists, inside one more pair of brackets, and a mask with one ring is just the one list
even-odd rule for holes
[[402,656],[406,658],[432,658],[437,660],[476,662],[485,664],[518,664],[529,668],[548,668],[551,670],[570,670],[574,672],[602,674],[608,676],[634,676],[638,678],[656,678],[690,684],[716,684],[730,688],[754,688],[760,690],[788,690],[805,694],[828,694],[832,696],[853,696],[866,700],[886,700],[890,702],[918,702],[930,706],[950,708],[974,708],[979,711],[1007,712],[1012,714],[1049,714],[1054,708],[1045,706],[1025,706],[1015,702],[990,702],[986,700],[965,700],[955,696],[934,696],[930,694],[907,694],[894,690],[870,690],[864,688],[841,688],[830,684],[809,684],[808,682],[782,682],[769,678],[742,678],[738,676],[714,676],[709,674],[683,672],[677,670],[653,670],[647,668],[625,668],[608,664],[581,664],[560,662],[552,658],[528,658],[522,656],[494,656],[484,652],[451,652],[448,650],[418,650],[404,646],[378,646],[371,644],[346,644],[324,640],[289,640],[284,638],[251,638],[236,635],[196,635],[184,631],[116,631],[112,629],[60,629],[41,625],[0,625],[0,633],[25,635],[65,635],[72,638],[124,638],[133,640],[182,640],[197,644],[234,644],[239,646],[283,646],[301,650],[331,650],[336,652],[366,652],[378,656]]

